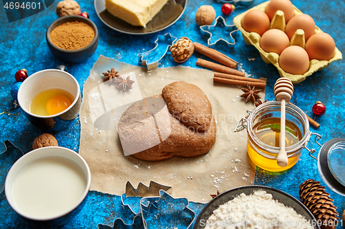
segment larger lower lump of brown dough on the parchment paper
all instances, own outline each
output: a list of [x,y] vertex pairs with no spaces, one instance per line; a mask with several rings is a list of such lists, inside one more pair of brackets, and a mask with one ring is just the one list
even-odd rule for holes
[[[194,97],[194,102],[202,103],[205,98]],[[193,104],[190,106],[195,108]],[[171,115],[163,96],[157,95],[128,107],[119,120],[118,133],[126,153],[140,160],[158,161],[174,156],[195,157],[207,153],[215,144],[216,124],[210,113],[206,131],[187,127]]]

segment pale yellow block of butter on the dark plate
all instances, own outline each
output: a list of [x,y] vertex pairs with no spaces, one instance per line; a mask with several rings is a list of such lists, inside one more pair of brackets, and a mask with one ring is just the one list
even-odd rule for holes
[[168,0],[106,0],[106,9],[131,25],[145,27],[167,2]]

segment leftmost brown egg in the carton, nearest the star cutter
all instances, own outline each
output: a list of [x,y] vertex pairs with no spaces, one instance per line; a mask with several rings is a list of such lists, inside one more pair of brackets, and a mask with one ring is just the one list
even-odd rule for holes
[[256,32],[260,36],[270,29],[270,19],[262,10],[250,10],[244,15],[241,24],[246,32]]

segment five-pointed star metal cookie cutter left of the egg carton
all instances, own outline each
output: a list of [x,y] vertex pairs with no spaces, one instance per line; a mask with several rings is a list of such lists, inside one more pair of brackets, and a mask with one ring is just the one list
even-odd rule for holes
[[208,37],[208,47],[224,45],[225,47],[232,48],[235,45],[233,34],[237,31],[236,25],[226,25],[224,17],[221,16],[217,17],[214,25],[200,26],[201,34]]

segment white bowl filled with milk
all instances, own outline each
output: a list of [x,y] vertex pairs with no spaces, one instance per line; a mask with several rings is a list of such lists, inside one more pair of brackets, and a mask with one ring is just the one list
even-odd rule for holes
[[8,204],[19,215],[37,221],[68,214],[86,197],[90,168],[78,153],[49,146],[23,155],[5,181]]

